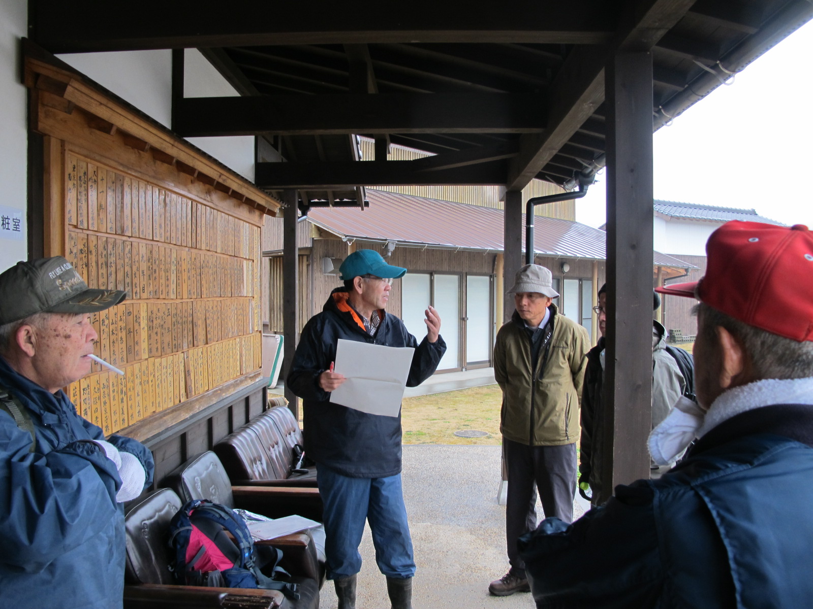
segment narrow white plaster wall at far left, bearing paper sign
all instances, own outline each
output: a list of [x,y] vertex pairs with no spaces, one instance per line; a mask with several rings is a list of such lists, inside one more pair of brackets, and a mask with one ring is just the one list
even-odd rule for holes
[[[0,216],[11,210],[21,219],[20,234],[3,236],[0,230],[0,271],[28,258],[25,224],[28,130],[26,91],[20,82],[20,37],[26,35],[28,2],[0,2]],[[0,225],[2,226],[2,225]],[[19,238],[18,238],[19,237]]]

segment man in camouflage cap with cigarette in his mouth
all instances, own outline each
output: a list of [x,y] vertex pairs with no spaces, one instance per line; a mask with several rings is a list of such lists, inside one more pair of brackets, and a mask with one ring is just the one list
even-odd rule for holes
[[89,289],[59,256],[0,274],[4,606],[122,606],[123,502],[151,484],[152,456],[131,438],[106,441],[62,387],[90,371],[89,313],[124,296]]

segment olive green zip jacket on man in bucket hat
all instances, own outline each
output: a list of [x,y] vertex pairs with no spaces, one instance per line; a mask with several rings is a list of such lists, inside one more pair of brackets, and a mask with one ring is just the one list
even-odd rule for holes
[[500,432],[503,438],[528,446],[559,446],[579,439],[590,341],[587,330],[559,315],[555,304],[550,313],[554,333],[533,374],[531,340],[519,313],[515,311],[511,322],[500,328],[494,345],[494,377],[502,389]]

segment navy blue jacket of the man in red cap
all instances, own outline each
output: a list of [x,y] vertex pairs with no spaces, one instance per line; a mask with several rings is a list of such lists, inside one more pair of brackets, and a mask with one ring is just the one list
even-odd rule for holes
[[659,480],[520,538],[537,607],[806,607],[813,407],[743,412]]

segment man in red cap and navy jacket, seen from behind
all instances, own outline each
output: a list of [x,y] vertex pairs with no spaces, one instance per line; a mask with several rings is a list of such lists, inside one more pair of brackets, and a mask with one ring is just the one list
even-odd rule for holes
[[650,434],[659,480],[616,486],[571,526],[522,540],[537,607],[806,607],[813,598],[813,235],[727,222],[700,300],[697,404]]

